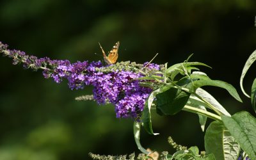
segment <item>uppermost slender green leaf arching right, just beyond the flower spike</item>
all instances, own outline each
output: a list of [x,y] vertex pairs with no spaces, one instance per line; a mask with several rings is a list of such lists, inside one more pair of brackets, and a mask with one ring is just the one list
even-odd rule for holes
[[[175,76],[177,76],[177,74],[180,73],[182,66],[184,66],[184,65],[186,65],[186,67],[190,67],[190,66],[194,66],[194,65],[202,65],[205,67],[209,67],[208,65],[205,65],[204,63],[200,63],[200,62],[177,63],[175,65],[172,65],[165,71],[166,76],[170,76],[173,81]],[[211,67],[209,67],[209,68],[211,68]]]

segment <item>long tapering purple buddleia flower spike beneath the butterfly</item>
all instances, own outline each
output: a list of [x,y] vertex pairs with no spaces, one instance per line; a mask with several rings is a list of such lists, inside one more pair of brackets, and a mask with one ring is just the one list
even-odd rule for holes
[[24,68],[33,70],[42,69],[45,78],[52,78],[56,83],[67,79],[71,90],[83,89],[84,86],[93,86],[93,98],[98,104],[110,102],[115,105],[117,118],[138,119],[141,116],[145,100],[152,88],[140,86],[138,78],[144,75],[138,72],[139,68],[160,70],[156,64],[135,65],[124,63],[104,66],[100,61],[51,60],[50,58],[37,58],[28,56],[25,52],[8,49],[8,45],[0,42],[0,52],[3,56],[12,58],[13,65],[21,63]]

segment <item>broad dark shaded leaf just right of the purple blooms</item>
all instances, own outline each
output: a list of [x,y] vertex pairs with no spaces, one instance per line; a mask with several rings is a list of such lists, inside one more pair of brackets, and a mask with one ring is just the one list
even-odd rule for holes
[[[189,89],[193,87],[189,79],[182,79],[177,85]],[[186,105],[189,95],[190,93],[183,90],[170,88],[169,90],[156,95],[156,107],[164,115],[175,115]]]

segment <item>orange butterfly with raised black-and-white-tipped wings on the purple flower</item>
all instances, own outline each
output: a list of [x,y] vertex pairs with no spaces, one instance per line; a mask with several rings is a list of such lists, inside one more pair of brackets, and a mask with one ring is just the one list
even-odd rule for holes
[[100,49],[102,50],[104,61],[106,61],[108,65],[116,63],[116,60],[118,58],[118,48],[119,48],[119,42],[116,42],[116,44],[112,47],[111,51],[108,52],[108,56],[106,56],[106,53],[104,52],[104,50],[100,45]]

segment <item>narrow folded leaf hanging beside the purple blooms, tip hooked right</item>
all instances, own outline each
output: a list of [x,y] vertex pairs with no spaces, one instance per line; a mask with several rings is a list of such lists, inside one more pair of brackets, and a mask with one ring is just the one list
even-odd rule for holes
[[142,113],[143,126],[145,130],[148,132],[148,134],[154,134],[154,135],[158,134],[158,133],[154,133],[152,129],[152,120],[151,120],[151,112],[150,112],[154,98],[158,93],[161,93],[161,88],[158,88],[157,90],[154,90],[152,93],[150,93],[148,99],[145,102],[145,106]]

